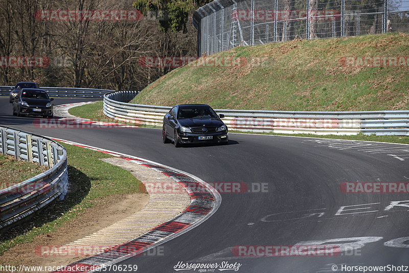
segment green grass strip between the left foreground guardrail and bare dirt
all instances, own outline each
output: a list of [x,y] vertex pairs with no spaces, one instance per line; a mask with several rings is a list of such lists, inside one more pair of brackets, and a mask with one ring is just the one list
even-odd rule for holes
[[31,242],[36,236],[56,231],[63,223],[103,202],[103,198],[143,191],[144,186],[130,172],[98,158],[111,157],[76,146],[62,144],[68,154],[70,192],[40,211],[29,222],[20,223],[0,236],[0,255],[12,246]]

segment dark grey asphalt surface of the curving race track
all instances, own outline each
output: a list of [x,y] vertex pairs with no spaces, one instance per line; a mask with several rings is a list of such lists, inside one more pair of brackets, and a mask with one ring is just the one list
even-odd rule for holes
[[[90,100],[56,98],[54,104]],[[409,182],[409,160],[389,155],[404,154],[404,149],[409,154],[409,146],[230,133],[229,145],[175,148],[162,143],[160,129],[47,129],[34,126],[33,118],[11,113],[8,98],[0,98],[1,125],[139,156],[208,183],[247,186],[244,193],[221,192],[221,206],[212,217],[160,245],[156,253],[120,263],[136,264],[138,272],[176,272],[178,262],[223,261],[240,263],[238,272],[255,273],[333,272],[334,264],[338,271],[342,265],[391,265],[390,272],[395,272],[392,265],[409,266],[409,195],[344,193],[339,188],[344,182]],[[401,206],[390,206],[392,201],[402,201],[397,203]],[[349,250],[335,257],[232,253],[235,246],[322,243],[342,243]]]

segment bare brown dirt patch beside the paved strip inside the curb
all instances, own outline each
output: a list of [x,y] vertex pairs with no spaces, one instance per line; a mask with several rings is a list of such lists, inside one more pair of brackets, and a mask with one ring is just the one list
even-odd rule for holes
[[[106,226],[124,219],[145,207],[148,194],[134,193],[128,195],[113,195],[100,200],[98,205],[87,209],[76,217],[64,223],[56,232],[42,234],[30,243],[18,244],[4,255],[0,256],[0,264],[26,266],[64,266],[76,260],[85,258],[79,256],[41,257],[35,252],[41,246],[59,246],[93,234]],[[41,253],[41,251],[39,251]]]

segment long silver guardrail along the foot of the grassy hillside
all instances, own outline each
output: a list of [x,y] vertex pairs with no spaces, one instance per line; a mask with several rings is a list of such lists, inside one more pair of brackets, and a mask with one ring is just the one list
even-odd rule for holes
[[[104,95],[104,114],[112,119],[162,126],[171,109],[127,103],[138,92],[119,91]],[[230,129],[253,132],[354,135],[409,135],[409,111],[265,111],[215,109]]]

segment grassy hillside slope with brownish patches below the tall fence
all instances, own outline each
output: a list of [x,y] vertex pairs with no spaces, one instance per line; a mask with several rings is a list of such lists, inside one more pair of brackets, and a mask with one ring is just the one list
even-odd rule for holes
[[[409,108],[408,34],[293,40],[238,47],[210,57],[215,56],[241,57],[247,63],[180,67],[151,83],[132,103],[319,111]],[[360,65],[363,57],[381,58],[368,67]],[[397,57],[398,63],[382,57]]]

